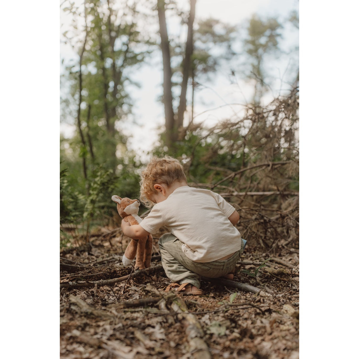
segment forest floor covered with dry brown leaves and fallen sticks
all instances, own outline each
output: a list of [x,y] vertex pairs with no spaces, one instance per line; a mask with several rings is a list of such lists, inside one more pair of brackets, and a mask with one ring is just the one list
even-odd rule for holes
[[123,267],[128,239],[119,228],[98,228],[90,244],[66,234],[60,358],[299,358],[298,243],[278,242],[268,252],[247,242],[234,281],[260,289],[257,294],[202,280],[204,294],[188,296],[163,292],[170,281],[160,262],[160,234],[151,269],[142,271]]

